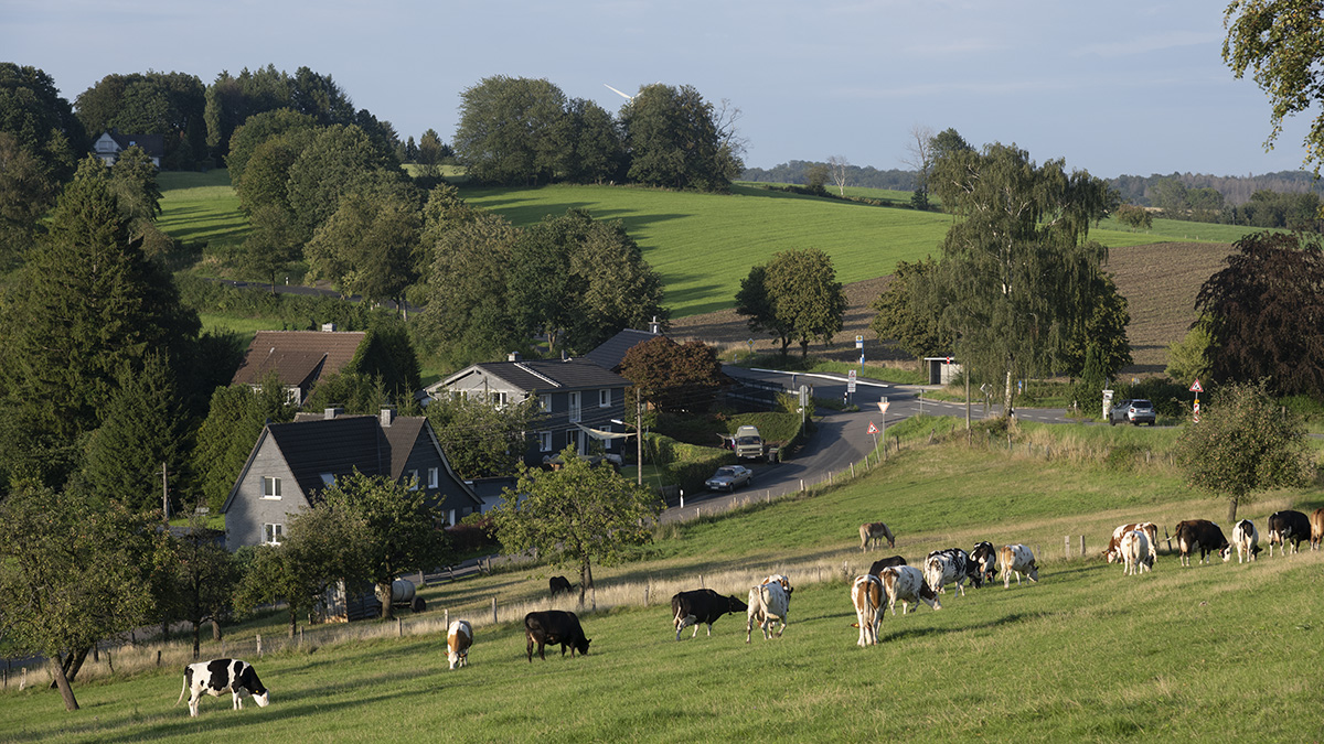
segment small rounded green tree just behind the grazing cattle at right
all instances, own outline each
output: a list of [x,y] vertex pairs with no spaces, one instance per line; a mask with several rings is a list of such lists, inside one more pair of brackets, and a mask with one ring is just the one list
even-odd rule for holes
[[1305,425],[1282,412],[1263,383],[1231,383],[1214,391],[1177,438],[1177,463],[1192,486],[1227,498],[1227,522],[1260,491],[1299,486],[1313,471]]

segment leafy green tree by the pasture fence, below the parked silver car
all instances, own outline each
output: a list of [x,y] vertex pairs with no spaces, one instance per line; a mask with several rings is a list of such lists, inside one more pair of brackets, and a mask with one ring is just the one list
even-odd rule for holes
[[651,539],[662,503],[647,488],[561,450],[559,470],[524,469],[506,502],[491,511],[506,552],[536,551],[553,565],[580,573],[580,605],[593,588],[593,563],[612,565],[626,549]]

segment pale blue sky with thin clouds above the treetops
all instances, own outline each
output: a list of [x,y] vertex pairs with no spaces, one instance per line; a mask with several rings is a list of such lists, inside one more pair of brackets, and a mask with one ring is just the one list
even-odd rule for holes
[[1270,103],[1222,62],[1207,0],[0,0],[0,61],[73,102],[107,74],[307,66],[400,138],[446,142],[461,94],[545,78],[617,111],[606,86],[691,85],[740,110],[744,162],[907,168],[916,127],[1095,176],[1301,167],[1307,124],[1264,150]]

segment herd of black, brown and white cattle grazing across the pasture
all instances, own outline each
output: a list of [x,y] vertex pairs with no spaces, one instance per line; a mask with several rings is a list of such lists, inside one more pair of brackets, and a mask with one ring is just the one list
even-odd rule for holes
[[[1288,544],[1291,552],[1298,552],[1303,541],[1309,540],[1311,549],[1320,549],[1324,541],[1324,508],[1316,510],[1307,516],[1300,511],[1278,511],[1268,518],[1268,555],[1274,555],[1274,545],[1278,545],[1282,555],[1287,555]],[[1176,532],[1169,537],[1177,541],[1181,565],[1190,565],[1190,556],[1198,551],[1200,563],[1211,553],[1218,553],[1223,561],[1231,560],[1231,553],[1237,551],[1237,561],[1253,561],[1262,552],[1259,547],[1259,532],[1255,523],[1242,519],[1233,527],[1233,539],[1229,543],[1222,528],[1206,519],[1192,519],[1180,522]],[[887,547],[895,547],[895,536],[882,522],[871,522],[859,526],[859,548],[867,551],[871,544],[887,541]],[[1158,526],[1152,522],[1136,522],[1121,524],[1112,532],[1108,548],[1103,557],[1108,563],[1121,563],[1127,576],[1135,576],[1153,569],[1158,555]],[[1210,559],[1211,560],[1211,559]],[[1035,564],[1034,553],[1027,545],[1014,544],[994,548],[992,543],[984,541],[974,545],[974,549],[965,552],[961,548],[947,548],[933,551],[924,559],[923,569],[906,563],[902,556],[891,556],[876,560],[869,567],[869,573],[855,577],[850,588],[851,604],[855,606],[855,622],[853,628],[859,629],[859,646],[878,643],[878,626],[883,620],[883,604],[892,616],[896,614],[896,602],[902,602],[902,614],[910,612],[910,605],[919,606],[920,602],[943,609],[939,600],[940,593],[947,592],[948,584],[956,585],[956,593],[965,594],[965,582],[974,588],[982,586],[1002,572],[1002,586],[1010,588],[1012,576],[1016,582],[1021,582],[1021,576],[1030,581],[1039,580],[1039,569]],[[548,581],[552,597],[569,592],[569,581],[563,576],[553,576]],[[781,637],[786,629],[786,616],[790,612],[790,594],[793,588],[790,580],[780,573],[775,573],[759,584],[749,588],[747,601],[735,596],[723,597],[712,589],[695,589],[678,592],[671,597],[671,618],[675,626],[675,639],[681,639],[681,633],[694,626],[694,638],[699,634],[699,625],[707,625],[708,635],[712,635],[712,624],[728,613],[745,613],[745,643],[753,638],[753,629],[763,630],[764,639],[773,635]],[[776,633],[773,633],[776,629]],[[584,637],[579,616],[564,610],[531,612],[524,616],[524,635],[527,639],[526,655],[534,661],[534,646],[538,646],[538,657],[545,659],[544,647],[560,645],[561,655],[569,649],[571,658],[575,653],[588,654],[589,639]],[[446,658],[450,669],[459,669],[469,665],[469,647],[474,642],[474,629],[466,620],[457,620],[446,630]],[[184,688],[180,691],[177,706],[184,694],[189,694],[188,712],[197,716],[199,699],[203,694],[220,696],[230,692],[233,708],[242,708],[241,698],[250,695],[260,707],[270,703],[270,691],[262,686],[257,671],[252,665],[240,659],[213,659],[209,662],[192,663],[184,667]]]

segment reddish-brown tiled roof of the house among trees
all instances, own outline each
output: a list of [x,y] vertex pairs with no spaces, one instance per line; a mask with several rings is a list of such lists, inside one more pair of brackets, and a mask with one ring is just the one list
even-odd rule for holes
[[282,385],[306,387],[354,359],[363,331],[258,331],[230,384],[258,385],[274,372]]

